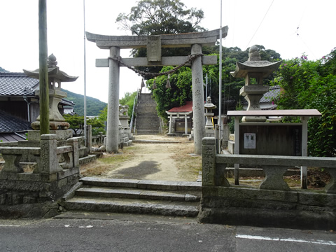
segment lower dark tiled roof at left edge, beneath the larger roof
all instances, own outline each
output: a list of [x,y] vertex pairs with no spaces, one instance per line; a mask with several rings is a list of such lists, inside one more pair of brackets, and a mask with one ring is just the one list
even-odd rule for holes
[[31,130],[30,123],[10,116],[10,114],[0,110],[0,132],[22,132]]

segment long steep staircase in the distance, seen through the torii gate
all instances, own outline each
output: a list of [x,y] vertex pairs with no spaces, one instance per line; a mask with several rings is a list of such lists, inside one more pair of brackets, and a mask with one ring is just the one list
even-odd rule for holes
[[137,134],[159,134],[160,118],[152,94],[141,94],[137,104]]

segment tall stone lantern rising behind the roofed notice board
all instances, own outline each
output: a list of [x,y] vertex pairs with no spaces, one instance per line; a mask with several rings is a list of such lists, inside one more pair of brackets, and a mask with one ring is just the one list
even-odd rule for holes
[[[261,60],[259,50],[256,45],[248,50],[248,60],[244,63],[237,62],[235,71],[231,75],[235,78],[245,78],[245,85],[241,87],[239,94],[248,102],[247,111],[260,109],[260,99],[262,95],[268,92],[269,87],[262,85],[262,80],[274,72],[281,64],[279,62],[269,62]],[[251,78],[255,78],[256,83],[252,84]],[[244,116],[243,122],[265,122],[264,116]]]

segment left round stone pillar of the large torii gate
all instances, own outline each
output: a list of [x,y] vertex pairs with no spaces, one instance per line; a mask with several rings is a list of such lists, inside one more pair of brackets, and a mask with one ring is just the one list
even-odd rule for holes
[[[110,57],[119,57],[120,48],[111,47]],[[106,151],[118,153],[119,129],[119,74],[118,62],[109,59],[109,98],[107,105]]]

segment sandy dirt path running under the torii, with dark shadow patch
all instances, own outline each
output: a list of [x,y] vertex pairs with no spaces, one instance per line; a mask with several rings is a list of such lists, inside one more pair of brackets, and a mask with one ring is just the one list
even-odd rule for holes
[[[193,141],[188,141],[186,138],[136,136],[134,144],[125,147],[123,154],[108,157],[111,160],[121,159],[120,162],[112,164],[106,162],[106,169],[100,176],[113,179],[197,181],[200,156],[190,155],[193,151]],[[104,159],[106,158],[97,160],[96,163],[102,165]]]

